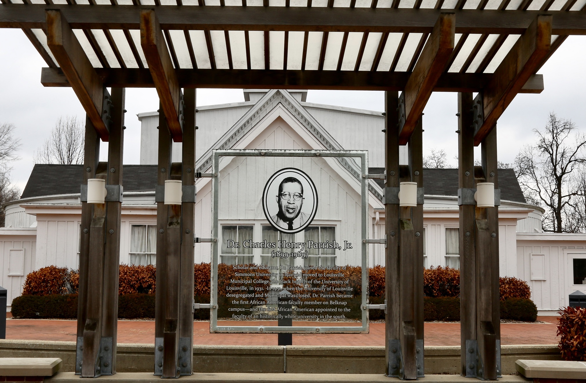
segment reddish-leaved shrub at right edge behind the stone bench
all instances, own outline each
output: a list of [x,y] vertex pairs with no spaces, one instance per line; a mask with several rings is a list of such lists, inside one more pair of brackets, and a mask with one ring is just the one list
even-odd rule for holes
[[586,307],[565,307],[558,312],[560,320],[557,345],[564,360],[586,361]]

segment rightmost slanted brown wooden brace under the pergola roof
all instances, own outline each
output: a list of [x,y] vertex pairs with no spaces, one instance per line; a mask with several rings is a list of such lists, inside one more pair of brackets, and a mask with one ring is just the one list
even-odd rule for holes
[[482,94],[484,121],[474,135],[474,145],[479,145],[489,134],[515,95],[543,63],[551,48],[551,21],[551,15],[537,16],[495,70]]

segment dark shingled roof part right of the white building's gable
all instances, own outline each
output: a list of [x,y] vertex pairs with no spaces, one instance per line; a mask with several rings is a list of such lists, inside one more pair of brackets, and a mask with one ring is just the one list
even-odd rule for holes
[[[369,167],[369,172],[380,174],[384,172],[384,168]],[[384,187],[384,180],[376,182]],[[423,187],[427,195],[457,196],[458,169],[424,169]],[[513,169],[499,169],[499,189],[500,199],[526,203]]]

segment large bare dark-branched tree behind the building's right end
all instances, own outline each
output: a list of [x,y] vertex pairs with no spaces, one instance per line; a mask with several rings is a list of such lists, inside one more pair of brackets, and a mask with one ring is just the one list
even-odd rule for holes
[[579,191],[578,170],[586,163],[586,136],[570,120],[550,113],[543,131],[534,129],[535,145],[527,145],[515,158],[515,173],[530,203],[546,208],[543,230],[575,232],[570,214]]

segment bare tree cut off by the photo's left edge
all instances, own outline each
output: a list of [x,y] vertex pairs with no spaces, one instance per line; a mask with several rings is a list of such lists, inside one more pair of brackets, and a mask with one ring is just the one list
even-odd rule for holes
[[16,152],[21,147],[20,140],[15,138],[13,124],[0,124],[0,227],[4,227],[4,205],[21,196],[21,190],[12,184],[9,162],[18,160]]

